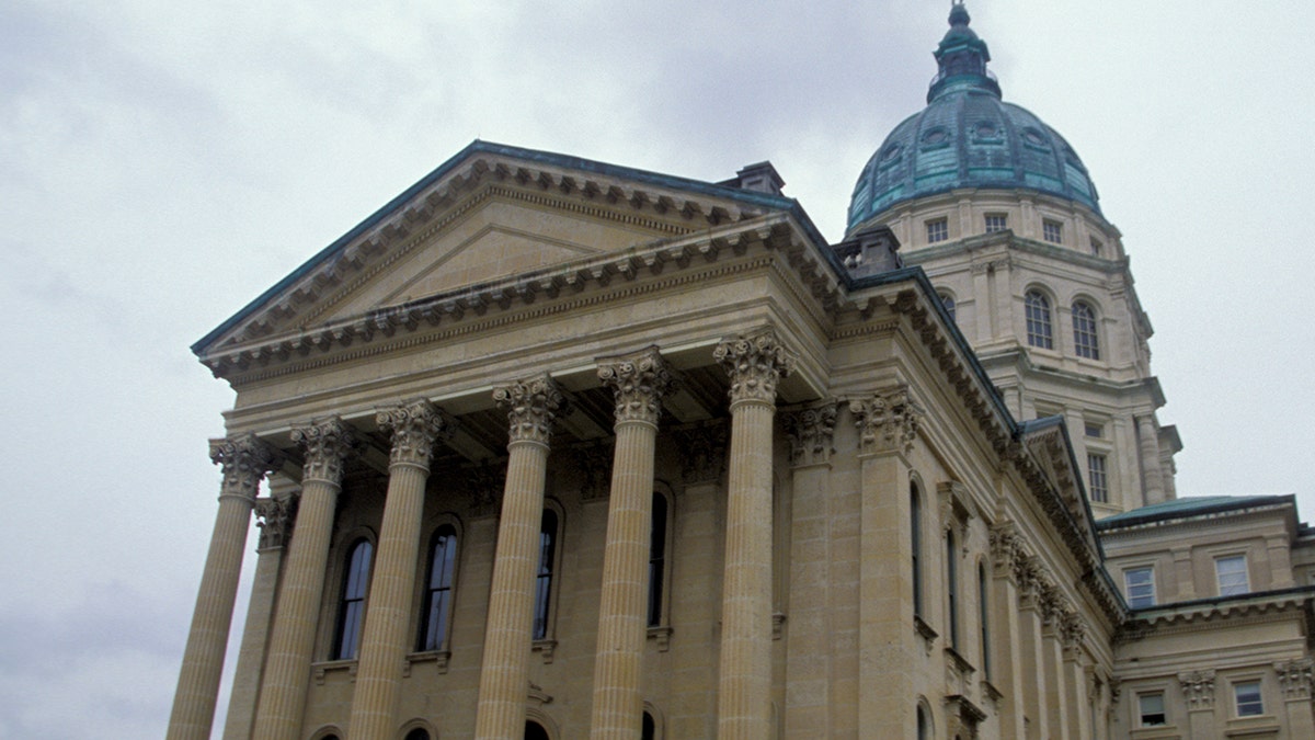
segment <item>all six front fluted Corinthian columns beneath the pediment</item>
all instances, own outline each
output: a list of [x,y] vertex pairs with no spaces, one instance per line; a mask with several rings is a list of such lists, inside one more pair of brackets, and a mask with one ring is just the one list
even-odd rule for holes
[[[731,412],[718,737],[759,739],[769,732],[772,711],[772,419],[777,381],[793,370],[794,357],[768,329],[721,342],[714,359],[730,378]],[[619,739],[634,737],[643,716],[639,681],[654,458],[661,399],[672,379],[658,348],[602,359],[598,375],[615,396],[617,444],[592,737]],[[509,460],[476,707],[475,736],[485,740],[515,739],[525,731],[550,438],[567,404],[548,375],[498,387],[493,395],[508,412]],[[351,703],[347,736],[352,740],[388,739],[397,731],[425,485],[434,446],[454,427],[427,400],[381,411],[377,424],[391,433],[392,453]],[[305,461],[299,511],[285,556],[283,548],[262,554],[262,571],[276,573],[281,566],[283,573],[276,599],[275,578],[267,574],[262,583],[268,582],[270,598],[251,607],[271,627],[266,644],[243,645],[238,670],[243,681],[259,683],[259,698],[242,699],[255,707],[254,726],[250,718],[234,718],[229,728],[234,737],[245,736],[246,728],[262,740],[293,740],[301,732],[333,517],[356,441],[337,417],[296,429],[293,441]],[[170,720],[174,740],[210,736],[256,490],[280,460],[277,450],[254,435],[214,442],[212,457],[224,466],[224,485]]]

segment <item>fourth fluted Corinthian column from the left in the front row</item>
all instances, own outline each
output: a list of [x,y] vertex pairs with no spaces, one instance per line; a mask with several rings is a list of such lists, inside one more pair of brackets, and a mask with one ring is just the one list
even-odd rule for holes
[[548,438],[552,421],[564,411],[565,398],[552,378],[542,375],[494,390],[493,400],[508,410],[509,441],[475,737],[512,740],[525,735]]

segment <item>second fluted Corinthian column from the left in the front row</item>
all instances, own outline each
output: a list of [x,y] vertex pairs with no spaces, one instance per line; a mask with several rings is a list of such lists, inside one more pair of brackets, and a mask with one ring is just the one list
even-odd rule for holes
[[292,740],[301,735],[301,711],[310,678],[310,652],[323,595],[333,516],[342,490],[343,461],[351,452],[351,431],[334,417],[292,431],[305,453],[301,500],[293,525],[288,564],[279,589],[279,607],[270,636],[264,685],[256,710],[255,737]]

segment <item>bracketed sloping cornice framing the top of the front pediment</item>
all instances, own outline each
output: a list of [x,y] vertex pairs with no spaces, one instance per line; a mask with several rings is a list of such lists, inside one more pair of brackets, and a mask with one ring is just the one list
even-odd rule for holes
[[752,221],[793,204],[780,196],[476,142],[196,342],[192,350],[204,359],[272,337],[288,327],[313,325],[362,286],[490,199],[676,238]]

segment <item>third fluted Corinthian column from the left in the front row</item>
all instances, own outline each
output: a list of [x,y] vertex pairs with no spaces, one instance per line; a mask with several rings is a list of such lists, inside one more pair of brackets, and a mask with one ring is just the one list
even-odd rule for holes
[[360,740],[392,737],[396,729],[393,708],[406,654],[425,482],[434,442],[451,432],[451,421],[423,399],[380,411],[376,421],[392,432],[393,452],[347,731]]

